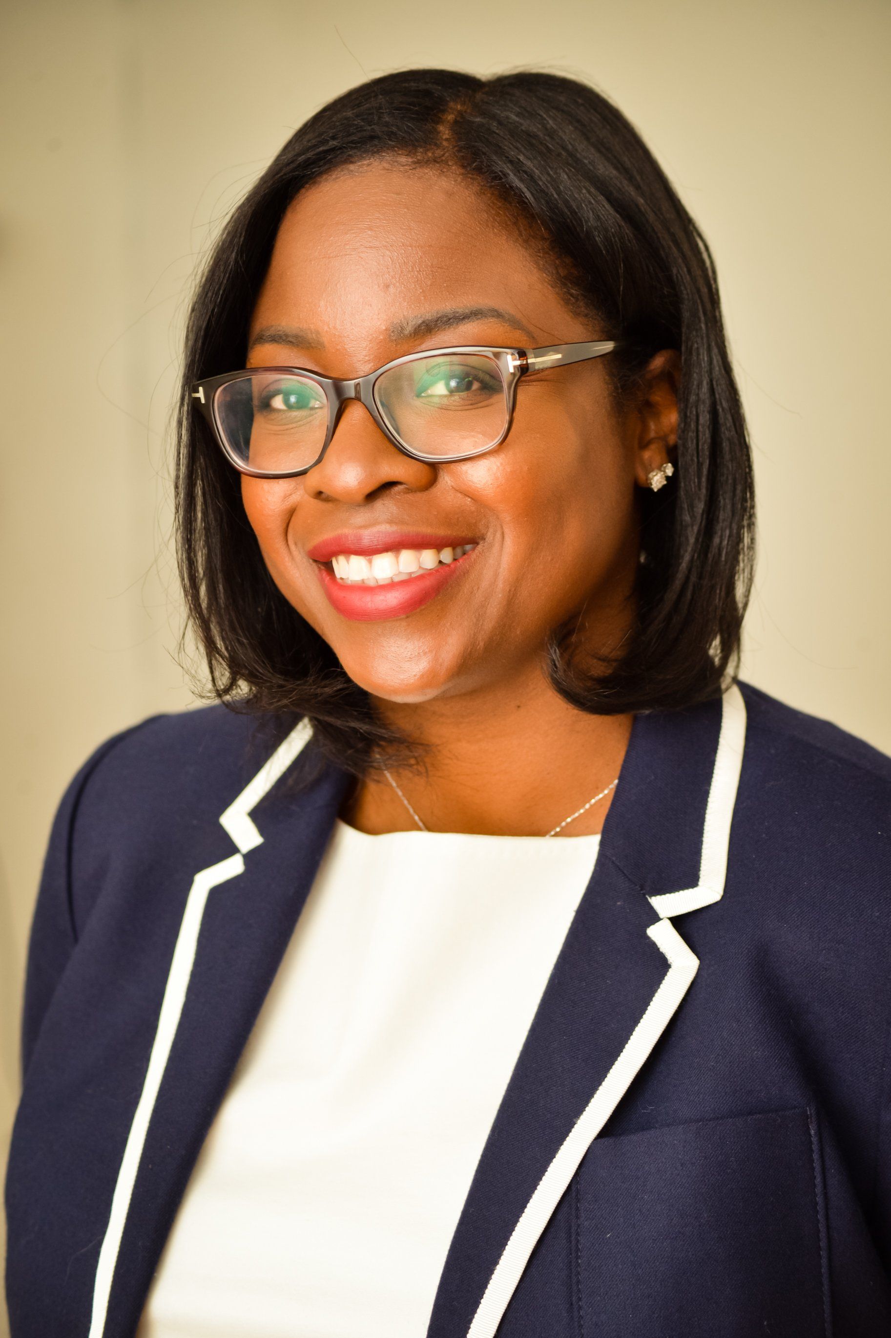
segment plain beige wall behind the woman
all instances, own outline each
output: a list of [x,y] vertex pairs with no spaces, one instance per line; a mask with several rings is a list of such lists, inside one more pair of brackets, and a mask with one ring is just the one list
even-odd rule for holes
[[190,704],[164,427],[190,276],[366,75],[594,82],[711,240],[760,488],[745,674],[891,751],[887,0],[5,0],[0,8],[0,1141],[52,809]]

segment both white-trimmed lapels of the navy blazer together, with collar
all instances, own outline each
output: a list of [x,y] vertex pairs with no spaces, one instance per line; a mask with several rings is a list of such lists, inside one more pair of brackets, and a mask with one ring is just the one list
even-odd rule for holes
[[[720,898],[745,709],[639,716],[578,906],[477,1167],[429,1338],[493,1338],[590,1141],[699,965],[668,917]],[[235,851],[195,872],[95,1275],[88,1338],[132,1333],[202,1143],[327,846],[347,777],[270,795],[298,725],[220,815]]]

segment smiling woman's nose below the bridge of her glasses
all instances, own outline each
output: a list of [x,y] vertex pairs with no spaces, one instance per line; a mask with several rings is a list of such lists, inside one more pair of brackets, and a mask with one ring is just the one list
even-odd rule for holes
[[361,506],[395,487],[423,492],[435,476],[435,466],[405,455],[359,400],[347,400],[327,451],[303,475],[303,488],[317,500]]

